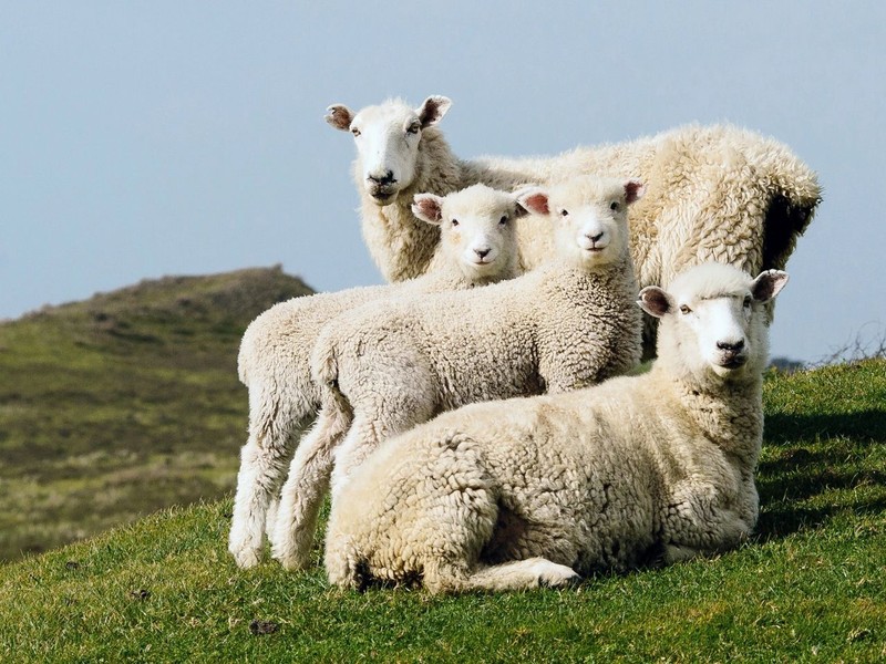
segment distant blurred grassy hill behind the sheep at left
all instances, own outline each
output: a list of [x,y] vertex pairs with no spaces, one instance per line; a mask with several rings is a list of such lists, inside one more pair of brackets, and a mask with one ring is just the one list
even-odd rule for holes
[[309,292],[279,268],[173,277],[0,324],[0,559],[230,490],[240,336]]

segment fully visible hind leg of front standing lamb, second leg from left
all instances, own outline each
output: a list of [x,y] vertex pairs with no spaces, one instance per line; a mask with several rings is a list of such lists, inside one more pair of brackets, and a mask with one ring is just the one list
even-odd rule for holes
[[324,407],[292,458],[271,538],[271,554],[288,570],[308,566],[317,519],[329,488],[332,450],[349,424],[347,413]]

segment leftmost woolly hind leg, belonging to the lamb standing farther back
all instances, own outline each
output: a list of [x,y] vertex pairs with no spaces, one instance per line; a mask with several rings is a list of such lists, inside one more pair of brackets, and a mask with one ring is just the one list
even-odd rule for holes
[[[276,500],[298,435],[313,417],[305,408],[297,417],[290,408],[280,408],[278,400],[259,398],[256,392],[250,390],[249,409],[255,415],[250,416],[249,438],[240,450],[228,536],[228,550],[240,568],[255,567],[261,559],[268,508]],[[276,407],[262,407],[265,404]]]

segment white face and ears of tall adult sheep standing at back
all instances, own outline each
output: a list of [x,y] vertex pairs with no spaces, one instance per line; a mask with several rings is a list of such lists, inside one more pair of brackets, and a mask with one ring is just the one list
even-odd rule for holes
[[391,205],[415,178],[422,132],[446,114],[452,102],[430,96],[418,108],[388,101],[353,113],[342,104],[329,106],[326,121],[353,134],[358,159],[356,176],[380,206]]

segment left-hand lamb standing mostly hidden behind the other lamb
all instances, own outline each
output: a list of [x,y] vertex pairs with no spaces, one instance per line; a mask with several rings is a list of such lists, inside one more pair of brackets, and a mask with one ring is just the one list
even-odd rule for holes
[[322,325],[370,301],[466,289],[519,273],[515,220],[526,210],[514,194],[474,185],[445,198],[416,195],[413,207],[425,226],[446,226],[426,274],[281,302],[253,321],[243,336],[238,362],[249,388],[249,437],[240,454],[228,541],[241,568],[258,563],[266,526],[272,535],[276,492],[300,433],[319,408],[309,360]]

